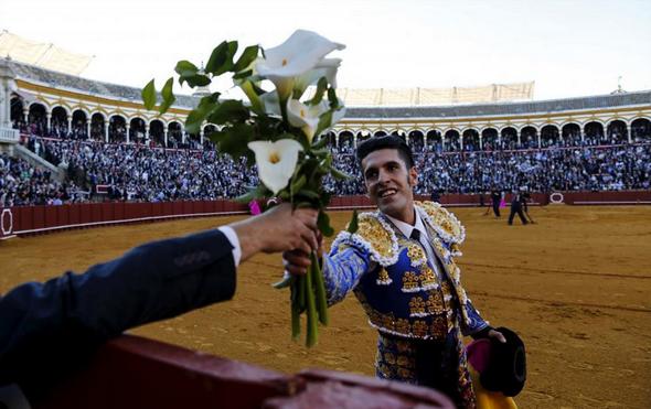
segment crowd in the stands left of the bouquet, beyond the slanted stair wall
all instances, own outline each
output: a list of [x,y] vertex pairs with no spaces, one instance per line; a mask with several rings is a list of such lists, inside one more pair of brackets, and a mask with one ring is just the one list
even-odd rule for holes
[[235,197],[257,184],[245,161],[215,150],[151,149],[138,144],[36,140],[40,154],[70,180],[110,200],[167,202]]

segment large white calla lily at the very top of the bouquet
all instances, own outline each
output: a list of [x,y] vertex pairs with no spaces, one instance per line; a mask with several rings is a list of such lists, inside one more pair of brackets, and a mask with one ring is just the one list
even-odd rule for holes
[[326,55],[345,45],[334,43],[312,31],[297,30],[282,44],[265,50],[256,63],[257,72],[271,80],[285,100],[294,88],[294,78],[317,67]]

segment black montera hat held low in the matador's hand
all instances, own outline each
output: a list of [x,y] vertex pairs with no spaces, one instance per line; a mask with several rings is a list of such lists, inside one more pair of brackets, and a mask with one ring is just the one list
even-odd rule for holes
[[488,367],[481,373],[481,385],[505,396],[515,396],[524,388],[526,380],[526,356],[524,343],[513,331],[503,326],[495,329],[506,338],[506,343],[491,338],[491,353]]

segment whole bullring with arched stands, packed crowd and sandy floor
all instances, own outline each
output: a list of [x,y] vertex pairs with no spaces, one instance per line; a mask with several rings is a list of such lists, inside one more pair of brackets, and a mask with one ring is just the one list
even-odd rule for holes
[[[6,58],[0,69],[0,232],[8,238],[0,240],[0,293],[246,217],[231,200],[257,180],[215,152],[214,125],[183,131],[201,95],[179,96],[158,116],[143,109],[137,88]],[[530,93],[533,84],[520,86]],[[485,100],[461,98],[465,105],[421,104],[420,89],[407,93],[410,106],[349,107],[322,136],[334,163],[357,176],[328,184],[333,227],[344,228],[352,208],[369,208],[357,143],[403,138],[421,174],[416,193],[440,194],[467,228],[459,265],[469,295],[526,344],[517,405],[649,407],[651,92],[491,99],[500,89]],[[531,191],[535,223],[509,226],[508,206],[499,219],[484,214],[479,195],[493,187],[506,203]],[[131,333],[285,374],[319,367],[372,376],[376,333],[357,301],[333,306],[319,345],[306,349],[290,341],[288,293],[270,287],[281,272],[279,256],[258,255],[238,269],[233,301]]]

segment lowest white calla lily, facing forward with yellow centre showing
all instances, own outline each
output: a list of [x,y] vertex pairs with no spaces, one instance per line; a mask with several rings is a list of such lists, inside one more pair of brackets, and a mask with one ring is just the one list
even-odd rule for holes
[[287,186],[296,170],[298,152],[303,150],[294,139],[249,142],[248,149],[255,153],[260,181],[274,194]]

